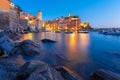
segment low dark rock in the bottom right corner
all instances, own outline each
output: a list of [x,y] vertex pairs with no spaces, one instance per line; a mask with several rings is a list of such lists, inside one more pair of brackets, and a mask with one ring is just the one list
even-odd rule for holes
[[107,70],[97,70],[90,75],[91,80],[120,80],[120,75]]

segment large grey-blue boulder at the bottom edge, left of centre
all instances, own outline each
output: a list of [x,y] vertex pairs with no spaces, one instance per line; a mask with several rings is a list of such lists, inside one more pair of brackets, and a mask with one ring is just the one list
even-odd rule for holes
[[16,80],[64,80],[53,67],[41,61],[31,61],[23,65]]

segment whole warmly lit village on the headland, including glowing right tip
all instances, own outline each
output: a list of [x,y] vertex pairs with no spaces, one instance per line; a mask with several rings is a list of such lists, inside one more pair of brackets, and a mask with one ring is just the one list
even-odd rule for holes
[[68,14],[68,17],[62,16],[61,18],[56,18],[54,20],[46,21],[44,27],[50,30],[79,30],[79,29],[89,29],[89,22],[81,22],[79,16],[71,16]]

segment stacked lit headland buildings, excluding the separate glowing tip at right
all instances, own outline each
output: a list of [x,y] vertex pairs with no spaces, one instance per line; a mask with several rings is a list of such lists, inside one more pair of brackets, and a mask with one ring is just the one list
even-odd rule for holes
[[56,18],[52,21],[48,21],[46,26],[47,28],[52,28],[52,30],[77,30],[81,20],[79,16],[71,16]]

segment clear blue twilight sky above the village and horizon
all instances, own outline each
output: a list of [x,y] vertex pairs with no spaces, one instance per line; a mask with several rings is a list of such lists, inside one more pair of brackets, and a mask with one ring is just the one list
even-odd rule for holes
[[80,16],[90,22],[94,28],[120,27],[120,0],[12,0],[24,11],[37,16],[43,13],[43,20],[52,20],[61,16]]

